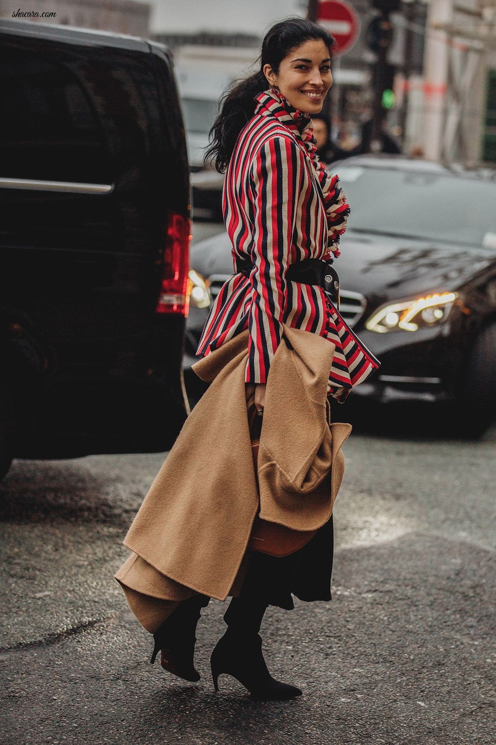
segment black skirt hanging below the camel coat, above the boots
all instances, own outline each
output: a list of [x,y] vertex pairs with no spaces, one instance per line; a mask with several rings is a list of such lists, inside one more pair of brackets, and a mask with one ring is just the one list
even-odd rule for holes
[[268,605],[294,608],[292,595],[300,600],[331,600],[334,527],[332,516],[315,536],[294,554],[272,557],[248,551],[248,568],[241,595],[265,597]]

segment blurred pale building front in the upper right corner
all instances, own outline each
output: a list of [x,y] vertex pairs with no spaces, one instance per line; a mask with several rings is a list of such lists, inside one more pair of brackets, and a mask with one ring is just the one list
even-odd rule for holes
[[496,162],[496,1],[431,0],[425,48],[427,157]]

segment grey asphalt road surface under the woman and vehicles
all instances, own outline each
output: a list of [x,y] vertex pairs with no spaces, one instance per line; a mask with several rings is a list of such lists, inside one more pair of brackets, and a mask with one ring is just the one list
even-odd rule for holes
[[494,745],[496,429],[428,439],[426,414],[412,437],[397,413],[394,434],[379,413],[344,448],[332,602],[265,616],[269,669],[303,689],[289,703],[227,676],[214,693],[218,601],[198,684],[149,665],[113,574],[167,454],[16,461],[0,486],[1,745]]

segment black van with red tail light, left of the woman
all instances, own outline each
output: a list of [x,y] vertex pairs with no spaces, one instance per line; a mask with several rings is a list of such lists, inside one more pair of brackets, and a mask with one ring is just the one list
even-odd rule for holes
[[0,21],[0,472],[187,416],[190,182],[163,45]]

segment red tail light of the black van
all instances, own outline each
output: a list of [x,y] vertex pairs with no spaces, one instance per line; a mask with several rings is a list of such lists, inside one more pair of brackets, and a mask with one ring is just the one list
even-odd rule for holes
[[156,313],[187,316],[189,293],[191,221],[177,212],[168,213],[167,236],[162,259],[162,279]]

